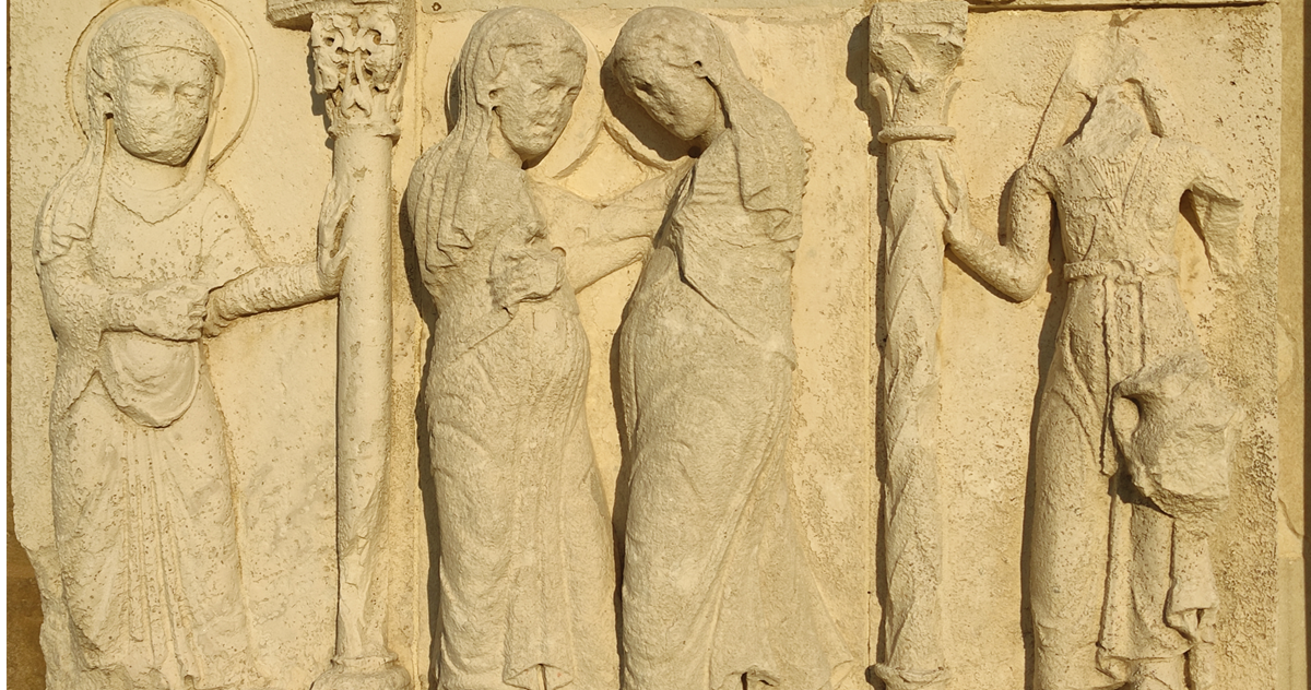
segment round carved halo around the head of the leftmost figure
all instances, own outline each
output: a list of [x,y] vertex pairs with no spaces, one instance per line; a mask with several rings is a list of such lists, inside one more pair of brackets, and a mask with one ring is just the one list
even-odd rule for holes
[[250,46],[250,38],[241,30],[241,25],[225,9],[206,0],[117,0],[102,9],[83,29],[77,38],[77,47],[73,48],[72,59],[68,63],[68,79],[66,80],[68,109],[85,136],[92,126],[87,122],[87,50],[90,38],[96,35],[105,20],[134,7],[164,7],[185,12],[208,29],[219,45],[219,50],[223,51],[227,75],[223,80],[223,93],[219,94],[218,113],[214,115],[218,119],[214,124],[214,147],[210,154],[210,166],[214,166],[232,148],[250,119],[250,113],[254,110],[258,75],[256,73],[254,48]]

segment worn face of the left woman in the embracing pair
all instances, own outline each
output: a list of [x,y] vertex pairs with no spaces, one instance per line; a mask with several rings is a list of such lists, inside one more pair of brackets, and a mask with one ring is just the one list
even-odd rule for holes
[[573,115],[585,67],[583,58],[568,50],[510,55],[492,107],[519,158],[539,158],[556,145]]

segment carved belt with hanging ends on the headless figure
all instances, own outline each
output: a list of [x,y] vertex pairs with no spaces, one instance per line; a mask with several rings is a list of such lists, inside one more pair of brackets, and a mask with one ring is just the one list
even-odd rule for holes
[[[1106,394],[1103,401],[1101,411],[1100,456],[1101,471],[1108,477],[1114,475],[1120,469],[1120,462],[1116,457],[1114,439],[1110,435],[1110,390],[1116,384],[1141,369],[1146,364],[1147,359],[1147,343],[1145,339],[1147,323],[1145,321],[1146,314],[1143,313],[1143,281],[1148,278],[1176,275],[1179,275],[1179,259],[1175,257],[1158,257],[1155,259],[1145,261],[1076,261],[1065,266],[1065,278],[1067,283],[1076,283],[1093,278],[1101,279],[1101,314],[1097,318],[1101,321],[1103,342],[1106,351]],[[1118,319],[1112,318],[1114,314],[1114,300],[1121,289],[1134,291],[1131,299],[1138,309],[1138,318],[1130,319],[1126,325],[1122,325]],[[1122,327],[1127,327],[1130,333],[1122,333]],[[1139,343],[1137,361],[1124,361],[1122,354],[1118,354],[1118,344],[1124,336],[1137,336],[1135,339]]]

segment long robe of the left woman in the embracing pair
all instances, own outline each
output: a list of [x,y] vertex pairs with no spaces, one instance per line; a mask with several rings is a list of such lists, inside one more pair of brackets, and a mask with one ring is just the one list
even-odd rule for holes
[[614,690],[614,537],[583,406],[587,338],[524,173],[490,160],[479,175],[461,200],[477,230],[421,254],[439,312],[426,385],[438,685]]

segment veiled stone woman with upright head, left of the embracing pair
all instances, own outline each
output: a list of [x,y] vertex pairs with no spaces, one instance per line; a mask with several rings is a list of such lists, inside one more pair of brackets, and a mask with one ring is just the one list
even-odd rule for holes
[[425,394],[443,689],[619,685],[612,534],[583,407],[587,339],[524,173],[569,120],[583,50],[547,12],[485,14],[456,68],[455,128],[410,177],[416,253],[438,310]]

